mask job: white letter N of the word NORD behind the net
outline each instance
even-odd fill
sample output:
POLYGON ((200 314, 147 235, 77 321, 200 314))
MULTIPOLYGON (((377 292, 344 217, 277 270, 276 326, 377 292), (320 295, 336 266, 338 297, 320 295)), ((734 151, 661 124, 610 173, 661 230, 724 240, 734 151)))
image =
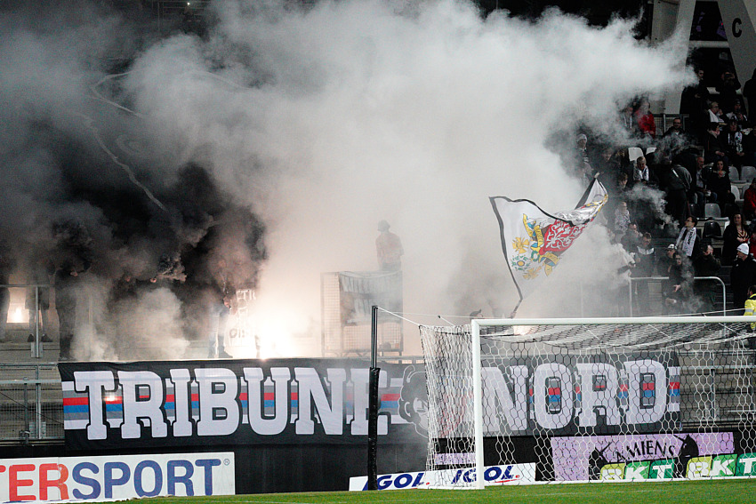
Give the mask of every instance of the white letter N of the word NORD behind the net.
POLYGON ((527 366, 513 365, 509 368, 510 380, 514 389, 514 401, 511 390, 504 380, 501 369, 497 367, 482 368, 483 380, 483 422, 488 432, 501 432, 501 412, 506 416, 512 431, 527 428, 527 366), (498 399, 498 402, 495 401, 498 399), (497 408, 497 404, 500 408, 497 408))

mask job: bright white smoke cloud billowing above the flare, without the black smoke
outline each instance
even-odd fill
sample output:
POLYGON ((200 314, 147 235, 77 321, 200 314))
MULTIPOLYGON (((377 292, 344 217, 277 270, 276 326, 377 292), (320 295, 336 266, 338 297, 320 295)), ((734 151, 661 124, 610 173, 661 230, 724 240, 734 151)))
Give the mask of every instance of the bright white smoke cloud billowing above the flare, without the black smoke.
MULTIPOLYGON (((639 42, 632 20, 484 19, 453 0, 211 10, 217 22, 204 38, 147 44, 120 98, 140 116, 140 141, 159 153, 153 182, 201 161, 261 216, 269 260, 257 316, 281 335, 318 331, 321 272, 377 267, 382 219, 406 251, 406 312, 509 313, 516 291, 488 196, 573 207, 583 188, 546 147, 553 134, 578 124, 615 132, 617 103, 689 79, 685 44, 639 42)), ((83 99, 60 100, 75 108, 83 99)), ((606 235, 594 229, 580 241, 523 315, 563 315, 576 306, 576 279, 613 275, 606 235)), ((406 335, 408 351, 419 351, 406 335)), ((318 339, 279 347, 318 355, 318 339)))

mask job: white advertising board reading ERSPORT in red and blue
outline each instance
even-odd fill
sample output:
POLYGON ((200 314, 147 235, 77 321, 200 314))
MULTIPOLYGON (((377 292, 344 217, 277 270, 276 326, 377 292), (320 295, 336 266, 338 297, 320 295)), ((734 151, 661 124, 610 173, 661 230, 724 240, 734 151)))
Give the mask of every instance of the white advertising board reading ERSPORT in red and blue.
POLYGON ((0 502, 234 493, 232 452, 0 459, 0 502))

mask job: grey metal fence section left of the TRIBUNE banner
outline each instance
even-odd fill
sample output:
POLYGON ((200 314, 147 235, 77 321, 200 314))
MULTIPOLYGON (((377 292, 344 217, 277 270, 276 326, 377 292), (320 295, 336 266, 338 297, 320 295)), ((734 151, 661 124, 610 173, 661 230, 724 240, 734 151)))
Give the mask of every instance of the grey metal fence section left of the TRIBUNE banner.
POLYGON ((63 438, 57 364, 0 364, 0 441, 63 438))

